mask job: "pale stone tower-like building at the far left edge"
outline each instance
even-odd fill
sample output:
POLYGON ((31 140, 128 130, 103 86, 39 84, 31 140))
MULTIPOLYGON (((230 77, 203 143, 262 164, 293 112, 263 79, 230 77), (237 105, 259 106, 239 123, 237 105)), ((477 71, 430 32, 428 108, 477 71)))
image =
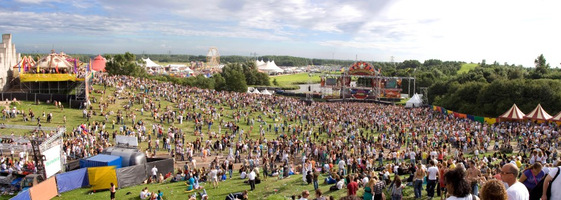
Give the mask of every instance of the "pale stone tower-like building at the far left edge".
MULTIPOLYGON (((12 44, 12 34, 3 34, 0 43, 0 87, 4 91, 9 87, 8 75, 12 67, 17 65, 19 53, 16 53, 16 45, 12 44)), ((19 69, 19 68, 18 68, 19 69)))

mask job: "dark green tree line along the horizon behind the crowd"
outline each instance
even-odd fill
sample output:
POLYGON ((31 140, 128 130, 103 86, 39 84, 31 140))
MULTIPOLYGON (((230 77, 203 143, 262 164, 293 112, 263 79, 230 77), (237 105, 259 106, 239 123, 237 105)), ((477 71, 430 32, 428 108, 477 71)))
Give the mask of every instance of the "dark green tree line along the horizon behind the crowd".
MULTIPOLYGON (((39 58, 39 54, 28 54, 39 58)), ((95 55, 71 55, 83 62, 95 55)), ((146 56, 146 55, 144 55, 146 56)), ((148 55, 160 62, 204 61, 205 56, 185 55, 148 55)), ((204 75, 188 78, 167 75, 148 75, 138 65, 142 62, 139 56, 132 53, 104 55, 107 58, 106 70, 109 74, 122 74, 146 77, 160 81, 171 81, 178 84, 228 91, 247 91, 248 85, 271 85, 267 74, 256 69, 255 57, 223 56, 222 63, 227 63, 222 73, 211 78, 204 75)), ((309 59, 292 56, 261 56, 258 60, 274 60, 279 66, 306 65, 340 65, 350 66, 354 61, 309 59)), ((498 62, 487 63, 482 60, 477 67, 466 73, 459 74, 465 62, 441 61, 438 59, 405 60, 403 62, 372 62, 376 69, 380 68, 384 76, 415 77, 415 84, 408 79, 402 81, 402 93, 411 94, 411 90, 420 92, 420 88, 428 88, 428 103, 442 106, 461 113, 496 117, 516 103, 523 112, 530 112, 538 103, 550 114, 561 110, 561 70, 551 68, 545 57, 538 56, 534 60, 535 67, 525 68, 498 62)))

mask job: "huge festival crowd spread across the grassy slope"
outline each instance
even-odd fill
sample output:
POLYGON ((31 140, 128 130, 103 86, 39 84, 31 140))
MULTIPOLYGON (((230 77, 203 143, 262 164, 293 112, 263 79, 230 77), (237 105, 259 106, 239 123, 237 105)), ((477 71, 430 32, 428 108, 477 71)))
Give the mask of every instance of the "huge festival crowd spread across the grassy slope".
MULTIPOLYGON (((190 190, 203 189, 199 182, 207 181, 217 188, 237 168, 249 190, 262 181, 302 176, 303 184, 313 185, 316 199, 328 199, 320 182, 332 185, 330 190, 346 189, 345 199, 361 193, 363 199, 401 199, 406 187, 413 188, 415 198, 490 199, 501 188, 508 199, 535 199, 530 194, 540 180, 551 180, 559 171, 555 123, 486 124, 395 105, 306 105, 284 96, 128 76, 96 75, 94 84, 118 89, 94 90, 102 95, 83 107, 85 123, 65 135, 67 159, 98 154, 116 135, 135 136, 147 144, 143 150, 149 157, 165 152, 185 163, 173 180, 185 181, 190 190), (118 102, 125 103, 108 109, 118 102), (151 120, 139 117, 145 115, 151 120), (192 124, 192 131, 178 128, 184 123, 192 124), (511 197, 511 190, 522 189, 526 193, 516 195, 527 196, 511 197)), ((309 192, 298 195, 309 198, 309 192)), ((551 199, 556 198, 560 191, 552 192, 551 199)))

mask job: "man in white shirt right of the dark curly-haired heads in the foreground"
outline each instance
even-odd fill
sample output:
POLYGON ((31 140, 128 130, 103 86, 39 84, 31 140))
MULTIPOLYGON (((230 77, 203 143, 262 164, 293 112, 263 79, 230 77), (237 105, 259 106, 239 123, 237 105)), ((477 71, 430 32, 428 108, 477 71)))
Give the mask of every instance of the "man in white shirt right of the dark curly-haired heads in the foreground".
POLYGON ((506 194, 508 195, 508 200, 528 200, 530 199, 530 193, 524 184, 518 182, 516 178, 520 173, 518 167, 515 164, 508 163, 501 168, 501 178, 503 182, 508 184, 506 194))

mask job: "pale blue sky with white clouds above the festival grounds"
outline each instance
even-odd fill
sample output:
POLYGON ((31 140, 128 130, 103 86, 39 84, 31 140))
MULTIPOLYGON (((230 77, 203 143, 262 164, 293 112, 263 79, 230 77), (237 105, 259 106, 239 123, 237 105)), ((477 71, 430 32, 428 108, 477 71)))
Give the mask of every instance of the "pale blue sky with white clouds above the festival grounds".
POLYGON ((561 67, 561 1, 2 0, 18 52, 440 59, 561 67))

